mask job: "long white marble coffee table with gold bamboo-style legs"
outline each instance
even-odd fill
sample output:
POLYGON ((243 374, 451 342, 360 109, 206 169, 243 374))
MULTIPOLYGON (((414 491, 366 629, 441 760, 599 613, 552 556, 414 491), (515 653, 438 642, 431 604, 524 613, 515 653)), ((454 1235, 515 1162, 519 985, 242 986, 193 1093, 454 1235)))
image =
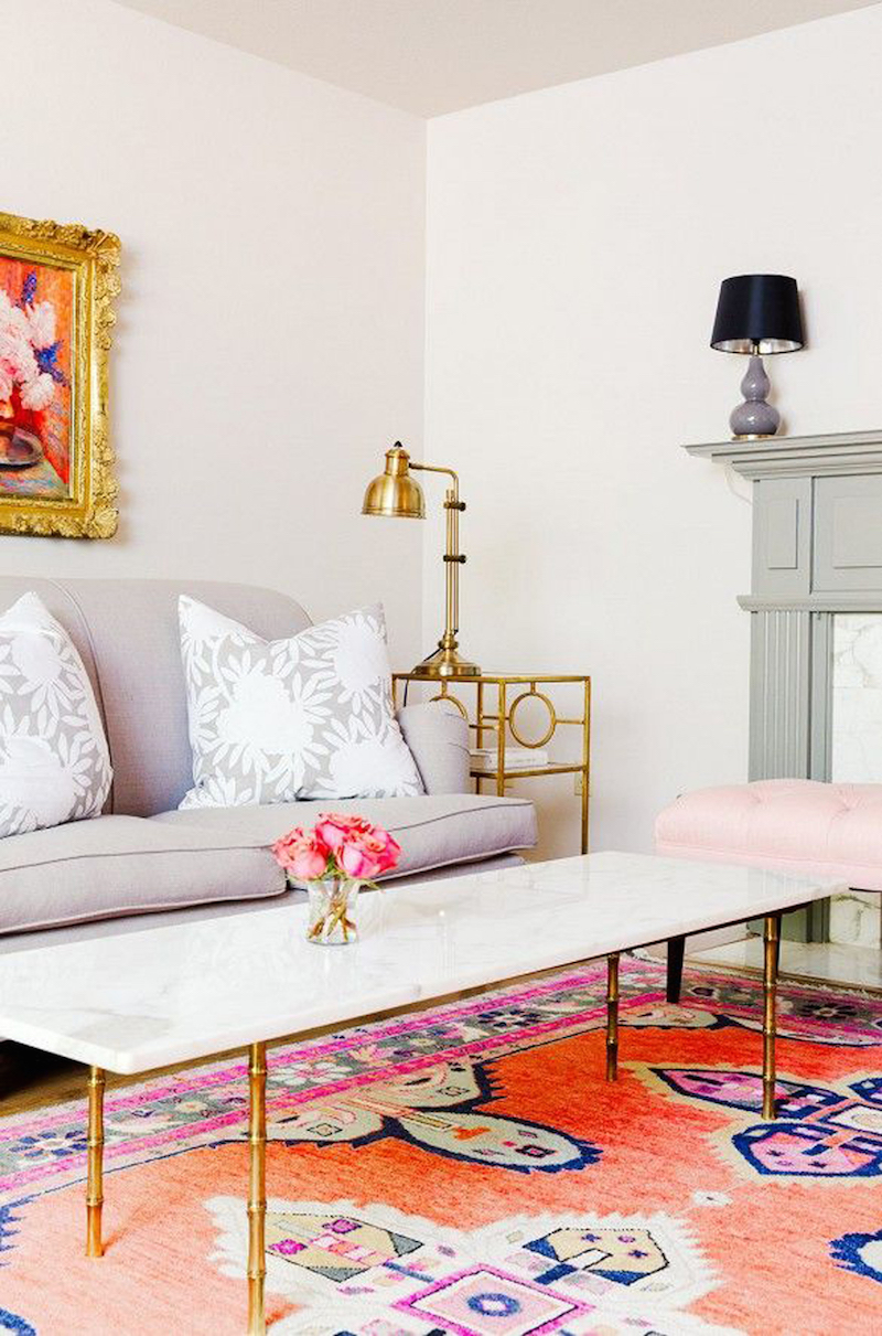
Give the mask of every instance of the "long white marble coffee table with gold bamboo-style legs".
POLYGON ((103 1252, 104 1073, 250 1049, 248 1332, 266 1331, 266 1045, 466 989, 607 957, 616 1075, 619 953, 765 919, 763 1113, 774 1117, 781 912, 842 890, 749 867, 588 854, 395 887, 358 907, 360 941, 304 938, 306 904, 250 910, 0 958, 0 1034, 89 1066, 87 1252, 103 1252))

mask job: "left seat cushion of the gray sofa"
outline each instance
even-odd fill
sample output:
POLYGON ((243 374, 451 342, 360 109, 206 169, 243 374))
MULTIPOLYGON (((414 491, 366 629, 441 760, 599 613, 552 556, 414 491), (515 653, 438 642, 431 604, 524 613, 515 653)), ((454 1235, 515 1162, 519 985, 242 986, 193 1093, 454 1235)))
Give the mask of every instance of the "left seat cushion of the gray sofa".
POLYGON ((268 850, 222 824, 97 816, 0 840, 0 934, 283 890, 268 850))

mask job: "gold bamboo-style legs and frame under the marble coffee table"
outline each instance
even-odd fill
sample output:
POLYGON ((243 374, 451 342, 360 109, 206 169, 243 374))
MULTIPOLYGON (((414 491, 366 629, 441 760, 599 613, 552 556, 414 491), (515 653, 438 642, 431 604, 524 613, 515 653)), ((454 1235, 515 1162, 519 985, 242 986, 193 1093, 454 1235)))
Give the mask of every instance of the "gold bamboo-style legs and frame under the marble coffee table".
MULTIPOLYGON (((781 914, 791 910, 805 908, 805 906, 790 906, 787 910, 767 914, 765 925, 765 963, 763 963, 763 1046, 762 1046, 762 1086, 763 1118, 775 1118, 775 1031, 777 1031, 777 989, 778 989, 778 946, 781 938, 781 914)), ((729 925, 719 925, 726 927, 729 925)), ((652 943, 635 943, 651 946, 652 943)), ((615 951, 607 955, 607 987, 606 987, 606 1079, 618 1079, 619 1057, 619 957, 615 951)), ((598 959, 588 957, 587 959, 598 959)), ((572 961, 571 965, 579 963, 572 961)), ((560 969, 556 966, 555 969, 560 969)), ((476 997, 491 989, 506 987, 522 979, 535 978, 540 974, 551 974, 554 970, 536 970, 532 974, 522 974, 514 979, 494 979, 491 983, 467 989, 463 993, 450 997, 427 998, 426 1002, 415 1006, 391 1007, 387 1011, 376 1013, 374 1017, 362 1017, 347 1021, 347 1026, 358 1026, 370 1019, 392 1015, 395 1013, 424 1011, 428 1007, 443 1006, 454 998, 476 997)), ((287 1043, 292 1039, 315 1038, 323 1034, 334 1034, 340 1029, 340 1023, 320 1026, 307 1034, 282 1035, 278 1043, 287 1043)), ((204 1054, 199 1061, 209 1058, 204 1054)), ((107 1078, 101 1067, 89 1067, 88 1077, 88 1169, 85 1190, 85 1255, 87 1257, 101 1257, 104 1242, 101 1234, 101 1213, 104 1206, 104 1092, 107 1078)), ((264 1309, 264 1291, 267 1277, 266 1260, 266 1220, 267 1220, 267 1043, 252 1043, 248 1047, 248 1327, 247 1336, 266 1336, 267 1320, 264 1309)))

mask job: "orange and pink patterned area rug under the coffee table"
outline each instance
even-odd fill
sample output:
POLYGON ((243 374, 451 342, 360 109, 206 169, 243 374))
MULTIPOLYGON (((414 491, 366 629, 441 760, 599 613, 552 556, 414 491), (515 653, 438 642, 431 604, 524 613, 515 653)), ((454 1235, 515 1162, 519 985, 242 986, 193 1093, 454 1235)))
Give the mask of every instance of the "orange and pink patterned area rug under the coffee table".
MULTIPOLYGON (((882 1331, 882 999, 623 962, 278 1047, 274 1336, 882 1331)), ((107 1101, 107 1255, 83 1256, 83 1104, 0 1120, 0 1333, 244 1331, 247 1074, 107 1101)))

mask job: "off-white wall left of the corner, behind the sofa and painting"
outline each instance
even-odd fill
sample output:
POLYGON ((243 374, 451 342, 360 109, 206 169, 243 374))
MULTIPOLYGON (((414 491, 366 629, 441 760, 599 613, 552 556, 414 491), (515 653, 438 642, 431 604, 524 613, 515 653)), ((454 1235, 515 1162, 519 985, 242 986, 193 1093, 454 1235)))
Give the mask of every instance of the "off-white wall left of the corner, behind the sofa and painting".
POLYGON ((121 528, 0 569, 200 576, 419 636, 418 526, 359 514, 423 413, 424 124, 104 0, 0 0, 3 208, 119 232, 121 528))

